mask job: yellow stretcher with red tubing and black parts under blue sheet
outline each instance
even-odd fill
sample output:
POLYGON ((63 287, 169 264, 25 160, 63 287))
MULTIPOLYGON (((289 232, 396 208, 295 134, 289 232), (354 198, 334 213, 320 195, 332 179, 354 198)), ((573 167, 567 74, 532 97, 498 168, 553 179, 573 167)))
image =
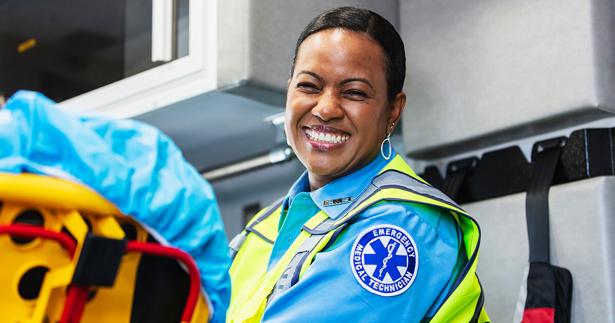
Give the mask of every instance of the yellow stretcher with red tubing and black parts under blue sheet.
POLYGON ((205 299, 188 253, 103 197, 0 173, 0 323, 207 322, 205 299))

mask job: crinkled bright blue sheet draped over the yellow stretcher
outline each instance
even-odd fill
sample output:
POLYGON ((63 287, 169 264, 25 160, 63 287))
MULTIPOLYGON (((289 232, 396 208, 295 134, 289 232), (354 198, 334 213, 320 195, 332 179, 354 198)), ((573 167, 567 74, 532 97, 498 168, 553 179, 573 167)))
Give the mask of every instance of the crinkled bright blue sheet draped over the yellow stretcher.
POLYGON ((227 240, 212 186, 158 129, 130 119, 68 113, 37 92, 0 109, 0 171, 77 181, 190 253, 224 322, 231 297, 227 240))

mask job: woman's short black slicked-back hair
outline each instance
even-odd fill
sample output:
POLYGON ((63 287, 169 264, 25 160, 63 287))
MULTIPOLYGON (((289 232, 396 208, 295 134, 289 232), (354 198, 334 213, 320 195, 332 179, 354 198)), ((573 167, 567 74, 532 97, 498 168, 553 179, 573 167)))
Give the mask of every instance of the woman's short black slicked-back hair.
POLYGON ((392 101, 395 95, 402 92, 403 81, 406 77, 406 54, 403 49, 402 38, 395 27, 381 15, 368 9, 355 7, 338 7, 327 10, 308 23, 297 39, 293 66, 290 70, 291 78, 295 73, 295 63, 301 43, 312 34, 331 28, 364 33, 375 41, 383 49, 386 57, 383 68, 389 101, 392 101))

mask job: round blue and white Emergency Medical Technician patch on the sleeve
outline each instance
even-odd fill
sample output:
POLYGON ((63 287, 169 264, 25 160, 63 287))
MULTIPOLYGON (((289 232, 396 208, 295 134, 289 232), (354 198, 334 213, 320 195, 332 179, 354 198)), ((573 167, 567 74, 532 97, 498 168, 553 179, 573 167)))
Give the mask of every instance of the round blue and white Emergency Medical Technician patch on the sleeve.
POLYGON ((350 263, 363 288, 376 295, 395 296, 412 285, 419 260, 415 241, 404 229, 376 225, 354 241, 350 263))

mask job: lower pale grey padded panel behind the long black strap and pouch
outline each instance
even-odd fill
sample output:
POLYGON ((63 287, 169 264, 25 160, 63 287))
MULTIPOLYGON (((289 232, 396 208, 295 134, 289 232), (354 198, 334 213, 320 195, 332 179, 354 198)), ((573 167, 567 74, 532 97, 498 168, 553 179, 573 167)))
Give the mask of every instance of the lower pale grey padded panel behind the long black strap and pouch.
MULTIPOLYGON (((615 177, 552 186, 551 262, 573 276, 571 322, 615 322, 615 177)), ((492 322, 513 322, 528 266, 525 193, 461 205, 480 224, 477 273, 492 322)))

